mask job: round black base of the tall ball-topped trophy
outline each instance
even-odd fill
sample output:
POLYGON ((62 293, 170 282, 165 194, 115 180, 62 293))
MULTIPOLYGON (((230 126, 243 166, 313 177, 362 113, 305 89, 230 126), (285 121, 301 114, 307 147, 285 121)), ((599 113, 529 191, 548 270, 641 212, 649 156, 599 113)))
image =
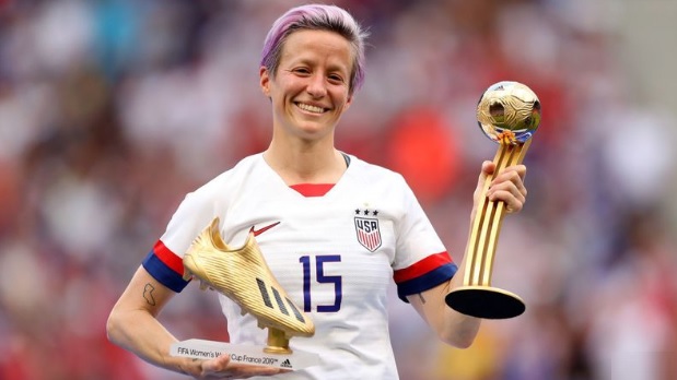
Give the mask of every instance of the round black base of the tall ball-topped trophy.
POLYGON ((514 318, 526 309, 516 294, 491 286, 462 286, 447 294, 444 300, 460 313, 483 319, 514 318))

